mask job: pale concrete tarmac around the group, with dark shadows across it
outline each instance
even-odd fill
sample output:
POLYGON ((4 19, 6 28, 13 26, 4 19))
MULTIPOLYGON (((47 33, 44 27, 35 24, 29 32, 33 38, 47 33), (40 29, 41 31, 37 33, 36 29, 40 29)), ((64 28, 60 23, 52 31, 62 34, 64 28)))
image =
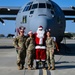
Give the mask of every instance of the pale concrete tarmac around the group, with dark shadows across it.
POLYGON ((60 53, 55 54, 56 70, 18 70, 12 42, 13 39, 0 38, 0 75, 75 75, 75 40, 66 40, 66 46, 62 45, 60 53))

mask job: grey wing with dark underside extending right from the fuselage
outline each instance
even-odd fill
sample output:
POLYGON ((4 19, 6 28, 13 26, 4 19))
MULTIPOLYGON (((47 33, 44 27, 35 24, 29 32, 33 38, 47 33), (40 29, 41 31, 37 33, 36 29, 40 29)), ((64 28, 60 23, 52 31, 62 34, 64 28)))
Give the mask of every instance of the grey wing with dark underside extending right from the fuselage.
POLYGON ((75 21, 75 7, 61 7, 62 11, 64 12, 66 20, 73 20, 75 21))

